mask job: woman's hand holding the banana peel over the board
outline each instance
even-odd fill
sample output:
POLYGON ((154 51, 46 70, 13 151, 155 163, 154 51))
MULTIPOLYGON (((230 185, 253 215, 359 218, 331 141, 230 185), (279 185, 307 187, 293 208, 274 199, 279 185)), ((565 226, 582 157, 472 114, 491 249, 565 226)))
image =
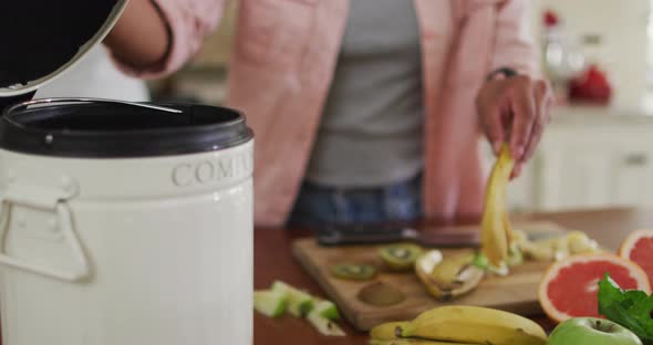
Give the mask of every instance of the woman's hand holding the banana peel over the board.
POLYGON ((509 143, 515 159, 512 178, 532 156, 549 124, 552 94, 549 83, 526 75, 488 81, 476 100, 483 129, 498 154, 509 143))

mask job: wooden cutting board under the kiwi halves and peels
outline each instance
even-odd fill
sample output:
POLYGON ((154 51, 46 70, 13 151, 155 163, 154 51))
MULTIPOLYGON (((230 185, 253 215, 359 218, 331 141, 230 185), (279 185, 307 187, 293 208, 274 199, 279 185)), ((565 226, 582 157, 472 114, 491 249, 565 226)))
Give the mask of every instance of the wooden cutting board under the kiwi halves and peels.
MULTIPOLYGON (((550 222, 516 223, 516 228, 537 237, 560 234, 563 228, 550 222)), ((320 247, 314 239, 301 239, 293 243, 293 254, 307 272, 320 284, 342 314, 360 331, 369 331, 384 322, 411 320, 423 311, 446 304, 466 304, 505 310, 521 315, 541 313, 538 285, 549 263, 526 262, 514 268, 508 276, 489 276, 471 293, 448 302, 434 300, 415 274, 381 271, 372 281, 352 282, 334 278, 329 268, 341 262, 370 263, 383 268, 377 245, 320 247), (405 293, 404 302, 386 307, 361 302, 356 295, 369 284, 384 282, 405 293)), ((450 255, 465 249, 443 249, 450 255)), ((467 249, 468 250, 468 249, 467 249)))

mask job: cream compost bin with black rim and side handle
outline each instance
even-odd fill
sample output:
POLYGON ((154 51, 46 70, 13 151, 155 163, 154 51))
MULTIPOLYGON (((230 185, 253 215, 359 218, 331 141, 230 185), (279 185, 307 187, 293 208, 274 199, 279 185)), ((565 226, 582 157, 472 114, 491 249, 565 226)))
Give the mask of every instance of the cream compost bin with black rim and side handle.
POLYGON ((2 344, 251 344, 245 118, 70 101, 0 119, 2 344))

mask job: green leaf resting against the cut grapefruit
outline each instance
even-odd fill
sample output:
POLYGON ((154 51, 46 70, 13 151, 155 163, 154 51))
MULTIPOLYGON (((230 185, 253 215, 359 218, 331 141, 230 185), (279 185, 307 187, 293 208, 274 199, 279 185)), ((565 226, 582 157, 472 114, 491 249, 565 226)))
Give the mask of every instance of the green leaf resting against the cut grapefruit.
POLYGON ((599 282, 599 314, 636 334, 642 343, 653 345, 653 295, 622 290, 610 274, 599 282))

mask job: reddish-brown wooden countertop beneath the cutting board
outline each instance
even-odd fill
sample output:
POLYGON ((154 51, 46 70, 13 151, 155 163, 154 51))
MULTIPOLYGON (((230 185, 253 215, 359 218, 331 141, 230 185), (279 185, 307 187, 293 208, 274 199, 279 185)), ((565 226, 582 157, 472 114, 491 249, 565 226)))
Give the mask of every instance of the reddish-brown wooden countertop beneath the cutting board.
MULTIPOLYGON (((604 247, 616 250, 625 236, 636 229, 653 228, 653 210, 605 209, 591 211, 568 211, 557 213, 519 215, 516 218, 550 220, 568 229, 585 231, 604 247)), ((310 236, 305 231, 271 229, 255 230, 255 288, 267 289, 274 280, 283 280, 305 289, 312 294, 324 296, 320 288, 302 271, 291 254, 293 239, 310 236)), ((343 322, 346 337, 323 337, 305 321, 289 316, 267 318, 255 313, 255 344, 367 344, 367 334, 355 332, 343 322)), ((545 328, 552 324, 545 317, 535 318, 545 328)))

